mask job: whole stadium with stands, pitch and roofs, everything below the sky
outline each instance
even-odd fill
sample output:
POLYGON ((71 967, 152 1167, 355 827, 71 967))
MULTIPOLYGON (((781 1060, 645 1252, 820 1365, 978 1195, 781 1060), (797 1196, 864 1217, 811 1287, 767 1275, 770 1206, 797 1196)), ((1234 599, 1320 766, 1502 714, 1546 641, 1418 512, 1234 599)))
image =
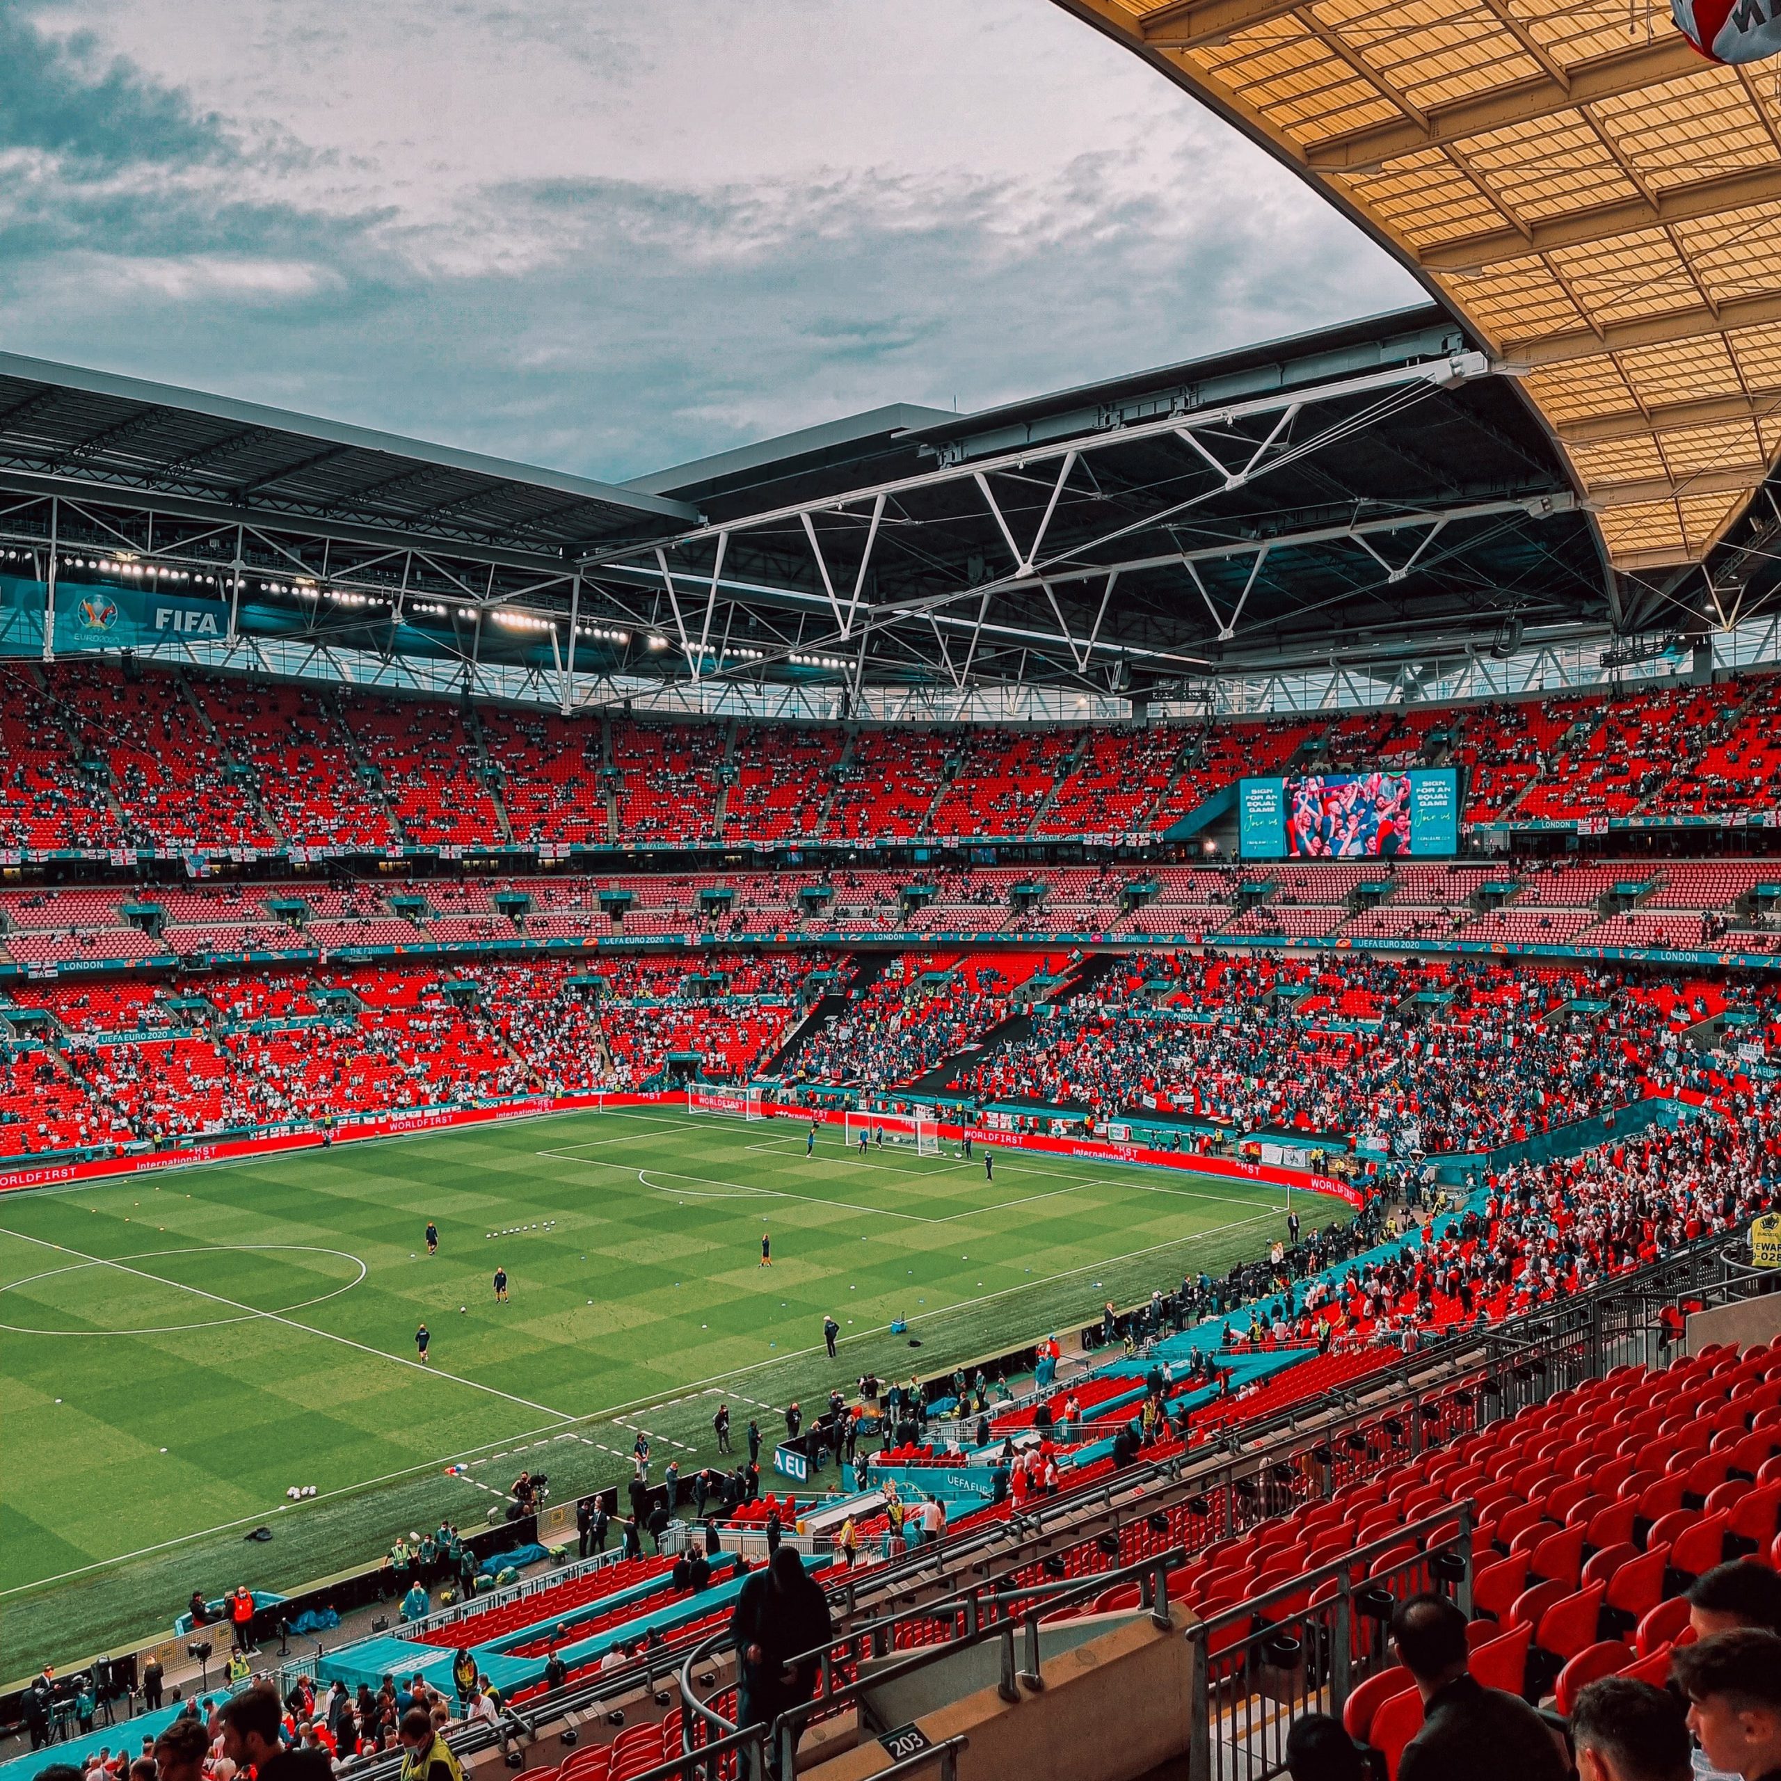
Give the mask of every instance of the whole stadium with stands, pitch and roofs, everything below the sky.
POLYGON ((1441 301, 623 486, 0 356, 0 1781, 1395 1781, 1776 1626, 1772 107, 1070 11, 1441 301))

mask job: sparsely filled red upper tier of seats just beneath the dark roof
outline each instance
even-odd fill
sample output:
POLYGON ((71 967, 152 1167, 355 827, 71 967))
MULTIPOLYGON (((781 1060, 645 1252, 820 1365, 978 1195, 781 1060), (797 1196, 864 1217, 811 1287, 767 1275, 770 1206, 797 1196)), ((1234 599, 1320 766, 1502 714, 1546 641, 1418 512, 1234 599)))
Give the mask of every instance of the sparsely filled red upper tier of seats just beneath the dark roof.
POLYGON ((1468 821, 1772 807, 1781 679, 1188 728, 565 720, 93 661, 0 687, 0 846, 784 844, 1158 832, 1236 778, 1452 764, 1468 821))

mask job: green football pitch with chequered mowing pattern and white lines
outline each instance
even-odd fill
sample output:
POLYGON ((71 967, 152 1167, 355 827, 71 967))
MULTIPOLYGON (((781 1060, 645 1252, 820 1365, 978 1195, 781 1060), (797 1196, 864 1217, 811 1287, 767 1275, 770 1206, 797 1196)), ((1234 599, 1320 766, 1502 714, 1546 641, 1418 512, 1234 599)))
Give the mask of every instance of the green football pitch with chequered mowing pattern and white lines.
POLYGON ((654 1476, 691 1471, 720 1402, 771 1452, 793 1398, 1086 1323, 1282 1229, 1259 1183, 1012 1151, 988 1181, 839 1127, 805 1156, 805 1129, 552 1115, 0 1199, 0 1683, 192 1589, 481 1526, 522 1466, 559 1501, 614 1484, 639 1428, 654 1476))

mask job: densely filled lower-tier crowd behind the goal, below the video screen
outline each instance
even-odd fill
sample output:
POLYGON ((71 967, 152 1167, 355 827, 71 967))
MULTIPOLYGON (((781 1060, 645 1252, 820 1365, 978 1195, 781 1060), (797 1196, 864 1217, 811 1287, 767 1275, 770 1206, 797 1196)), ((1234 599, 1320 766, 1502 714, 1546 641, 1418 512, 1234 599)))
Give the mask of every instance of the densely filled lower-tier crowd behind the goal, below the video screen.
MULTIPOLYGON (((946 1088, 1094 1118, 1179 1113, 1238 1133, 1348 1134, 1386 1152, 1487 1151, 1614 1113, 1655 1086, 1713 1088, 1681 1042, 1722 1012, 1610 971, 1350 955, 1339 962, 1127 960, 946 1088)), ((1756 988, 1740 997, 1774 1024, 1756 988)), ((841 1028, 837 1022, 837 1035, 841 1028)), ((871 1056, 867 1031, 857 1056, 871 1056)), ((834 1079, 844 1061, 825 1060, 834 1079)), ((903 1078, 907 1081, 907 1078, 903 1078)))

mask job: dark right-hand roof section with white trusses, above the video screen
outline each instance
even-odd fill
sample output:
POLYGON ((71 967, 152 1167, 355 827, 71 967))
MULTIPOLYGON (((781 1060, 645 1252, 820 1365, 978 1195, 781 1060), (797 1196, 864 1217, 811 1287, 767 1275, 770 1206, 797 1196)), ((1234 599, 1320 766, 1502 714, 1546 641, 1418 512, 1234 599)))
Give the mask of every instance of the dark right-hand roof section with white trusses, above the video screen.
POLYGON ((657 622, 695 655, 791 629, 880 679, 1106 693, 1610 623, 1558 452, 1434 306, 983 413, 876 410, 634 486, 703 522, 586 573, 671 590, 657 622))

